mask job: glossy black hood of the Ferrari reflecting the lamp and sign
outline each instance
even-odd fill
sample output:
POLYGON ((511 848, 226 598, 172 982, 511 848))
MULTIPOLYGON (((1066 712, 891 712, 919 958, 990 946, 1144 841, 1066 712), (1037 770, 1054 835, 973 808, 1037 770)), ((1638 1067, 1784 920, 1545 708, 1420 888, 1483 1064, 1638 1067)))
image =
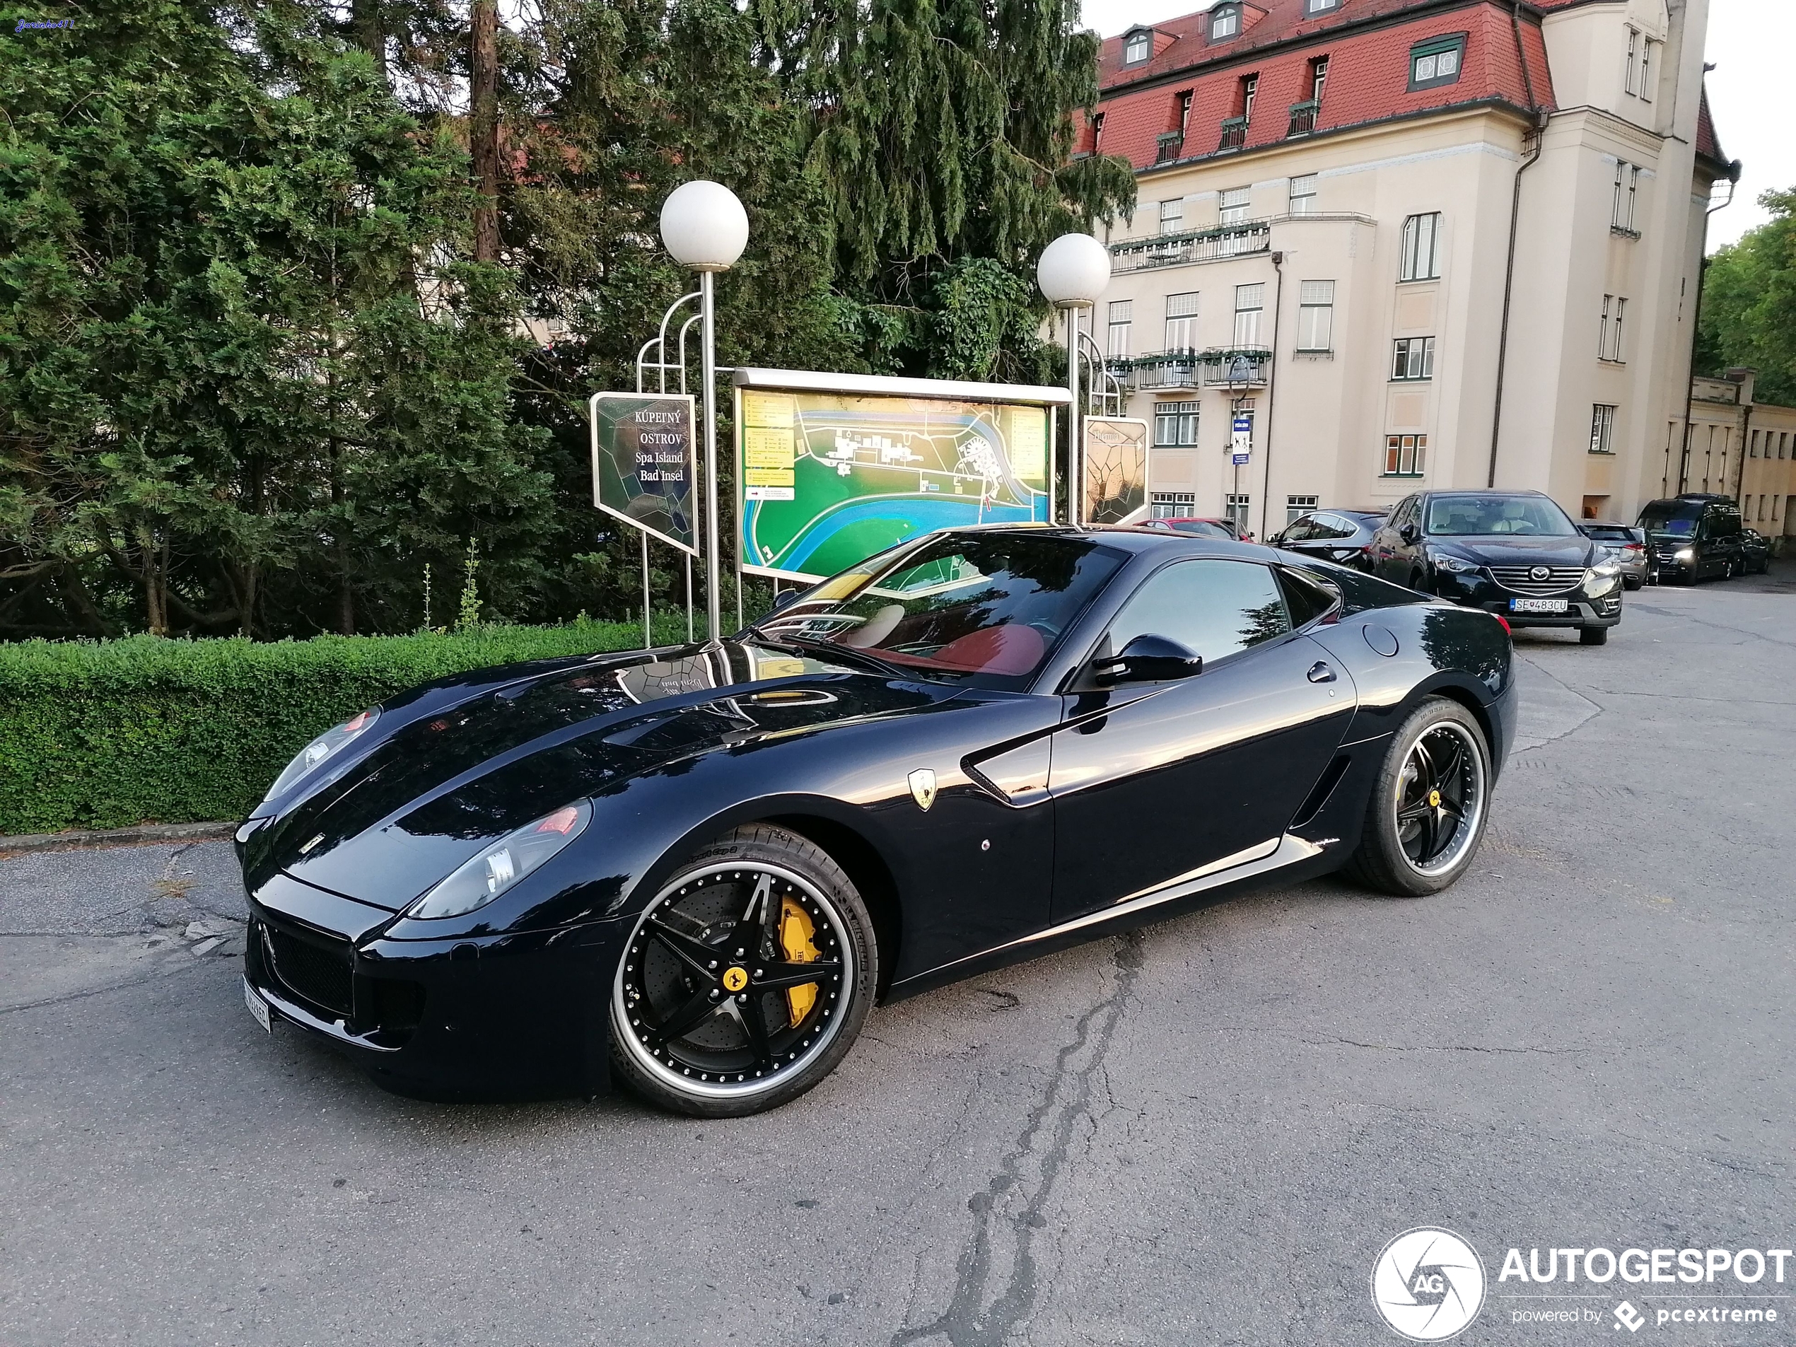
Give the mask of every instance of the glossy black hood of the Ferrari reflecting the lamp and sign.
POLYGON ((957 691, 735 641, 487 684, 253 833, 244 876, 253 891, 284 869, 397 912, 494 839, 641 772, 957 691))

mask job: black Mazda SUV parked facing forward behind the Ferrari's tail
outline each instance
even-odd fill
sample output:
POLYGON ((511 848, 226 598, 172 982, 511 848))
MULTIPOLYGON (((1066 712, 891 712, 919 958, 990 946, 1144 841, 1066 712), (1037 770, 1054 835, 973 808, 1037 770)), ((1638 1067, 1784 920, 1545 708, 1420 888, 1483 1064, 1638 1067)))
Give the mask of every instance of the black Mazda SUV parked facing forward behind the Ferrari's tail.
POLYGON ((1372 539, 1372 569, 1510 627, 1577 627, 1602 645, 1622 620, 1622 568, 1537 490, 1424 490, 1372 539))

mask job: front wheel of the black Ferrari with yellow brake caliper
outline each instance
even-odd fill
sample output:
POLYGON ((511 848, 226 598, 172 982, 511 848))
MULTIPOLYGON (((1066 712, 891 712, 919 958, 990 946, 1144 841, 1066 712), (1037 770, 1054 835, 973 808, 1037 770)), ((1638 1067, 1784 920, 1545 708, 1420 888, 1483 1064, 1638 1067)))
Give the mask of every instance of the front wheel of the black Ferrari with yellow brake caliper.
POLYGON ((638 918, 612 982, 612 1067, 695 1117, 776 1108, 848 1054, 876 957, 841 866, 783 828, 738 828, 681 866, 638 918))

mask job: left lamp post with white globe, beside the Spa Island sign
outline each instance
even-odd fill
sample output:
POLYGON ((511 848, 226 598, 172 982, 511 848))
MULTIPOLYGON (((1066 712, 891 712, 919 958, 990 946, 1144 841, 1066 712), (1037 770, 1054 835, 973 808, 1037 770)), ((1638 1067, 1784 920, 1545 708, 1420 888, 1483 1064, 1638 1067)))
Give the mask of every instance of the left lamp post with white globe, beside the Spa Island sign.
MULTIPOLYGON (((717 296, 715 277, 729 271, 749 246, 749 212, 722 183, 681 183, 661 205, 661 242, 681 266, 699 273, 700 357, 704 381, 704 616, 706 639, 724 627, 722 557, 717 515, 717 296)), ((663 359, 666 359, 663 356, 663 359)))

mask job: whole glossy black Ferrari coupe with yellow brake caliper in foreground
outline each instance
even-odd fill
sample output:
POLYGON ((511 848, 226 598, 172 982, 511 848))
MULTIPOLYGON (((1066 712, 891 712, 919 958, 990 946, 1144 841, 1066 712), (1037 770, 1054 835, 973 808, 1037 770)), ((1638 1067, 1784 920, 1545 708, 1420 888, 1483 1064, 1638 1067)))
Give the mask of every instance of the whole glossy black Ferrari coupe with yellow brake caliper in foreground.
POLYGON ((704 645, 417 688, 237 832, 244 995, 433 1097, 785 1103, 898 999, 1252 885, 1453 884, 1509 632, 1135 528, 930 533, 704 645))

